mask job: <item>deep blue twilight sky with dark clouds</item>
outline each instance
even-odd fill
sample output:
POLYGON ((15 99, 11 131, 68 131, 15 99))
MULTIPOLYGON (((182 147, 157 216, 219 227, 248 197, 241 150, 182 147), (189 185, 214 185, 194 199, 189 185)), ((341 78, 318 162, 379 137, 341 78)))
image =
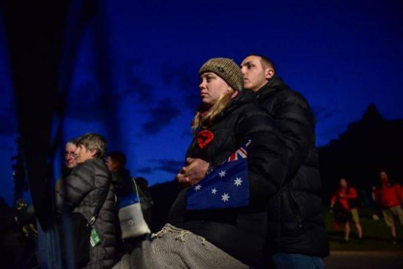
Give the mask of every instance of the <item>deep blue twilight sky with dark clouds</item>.
MULTIPOLYGON (((198 104, 197 70, 213 57, 240 63, 254 52, 272 58, 278 74, 315 111, 319 146, 359 120, 370 103, 387 119, 403 118, 398 1, 142 2, 103 2, 108 57, 97 49, 99 18, 86 25, 64 139, 104 134, 110 150, 126 153, 132 174, 151 184, 173 179, 183 162, 198 104), (106 93, 99 65, 107 65, 112 87, 106 93)), ((0 196, 11 202, 17 124, 1 27, 0 196)))

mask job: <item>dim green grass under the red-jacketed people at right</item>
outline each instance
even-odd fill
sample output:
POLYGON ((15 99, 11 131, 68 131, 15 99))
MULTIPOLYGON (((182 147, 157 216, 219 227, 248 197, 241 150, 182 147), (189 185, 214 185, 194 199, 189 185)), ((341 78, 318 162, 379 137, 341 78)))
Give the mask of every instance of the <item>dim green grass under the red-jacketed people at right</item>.
POLYGON ((333 214, 328 207, 323 208, 323 217, 329 239, 330 250, 350 250, 350 251, 403 251, 403 229, 395 220, 397 245, 391 244, 390 230, 382 218, 382 213, 376 208, 359 208, 360 223, 363 229, 364 239, 360 242, 357 239, 357 231, 352 225, 350 240, 344 243, 344 230, 341 225, 338 231, 333 229, 333 214), (373 220, 372 214, 377 213, 379 220, 373 220))

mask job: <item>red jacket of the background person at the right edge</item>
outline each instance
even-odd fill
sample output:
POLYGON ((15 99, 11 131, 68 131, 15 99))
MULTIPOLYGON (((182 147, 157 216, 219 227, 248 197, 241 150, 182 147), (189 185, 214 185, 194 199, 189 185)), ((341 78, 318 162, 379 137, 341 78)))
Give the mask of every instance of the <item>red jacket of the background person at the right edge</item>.
POLYGON ((380 188, 373 190, 373 198, 383 208, 390 208, 400 205, 403 201, 403 187, 400 184, 383 184, 380 188))

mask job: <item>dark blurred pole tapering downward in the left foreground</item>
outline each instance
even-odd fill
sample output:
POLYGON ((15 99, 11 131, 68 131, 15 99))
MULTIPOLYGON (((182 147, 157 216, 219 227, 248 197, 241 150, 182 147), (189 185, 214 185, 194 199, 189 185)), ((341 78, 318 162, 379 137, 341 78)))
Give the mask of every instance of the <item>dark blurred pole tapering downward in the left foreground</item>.
POLYGON ((65 0, 3 4, 23 158, 36 216, 44 228, 52 211, 52 119, 63 107, 56 89, 67 4, 65 0))

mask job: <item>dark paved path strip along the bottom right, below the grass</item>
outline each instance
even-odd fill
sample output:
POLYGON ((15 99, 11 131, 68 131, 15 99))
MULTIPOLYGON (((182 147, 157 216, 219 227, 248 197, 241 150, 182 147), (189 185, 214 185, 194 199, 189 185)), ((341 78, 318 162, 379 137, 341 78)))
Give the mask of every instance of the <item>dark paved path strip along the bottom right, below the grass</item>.
POLYGON ((324 263, 327 269, 403 269, 403 252, 331 251, 324 263))

